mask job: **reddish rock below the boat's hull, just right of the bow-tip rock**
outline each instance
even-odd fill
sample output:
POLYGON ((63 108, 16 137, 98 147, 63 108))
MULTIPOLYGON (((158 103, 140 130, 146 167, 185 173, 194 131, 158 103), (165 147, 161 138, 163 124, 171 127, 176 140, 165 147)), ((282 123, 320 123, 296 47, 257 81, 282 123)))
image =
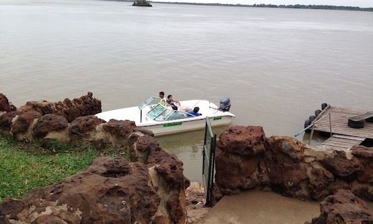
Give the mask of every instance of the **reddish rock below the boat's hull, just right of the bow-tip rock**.
POLYGON ((104 124, 104 130, 116 137, 128 137, 135 127, 135 122, 130 120, 111 119, 109 122, 104 124))

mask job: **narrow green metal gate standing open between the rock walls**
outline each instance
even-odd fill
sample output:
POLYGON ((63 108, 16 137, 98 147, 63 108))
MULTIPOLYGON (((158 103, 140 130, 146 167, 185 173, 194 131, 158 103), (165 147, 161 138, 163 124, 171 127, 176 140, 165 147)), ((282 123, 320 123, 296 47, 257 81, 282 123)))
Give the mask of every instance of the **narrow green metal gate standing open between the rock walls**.
POLYGON ((211 122, 206 118, 206 127, 204 129, 204 143, 202 149, 202 180, 204 185, 204 197, 206 205, 211 205, 213 192, 213 176, 215 171, 215 148, 216 134, 211 129, 211 122))

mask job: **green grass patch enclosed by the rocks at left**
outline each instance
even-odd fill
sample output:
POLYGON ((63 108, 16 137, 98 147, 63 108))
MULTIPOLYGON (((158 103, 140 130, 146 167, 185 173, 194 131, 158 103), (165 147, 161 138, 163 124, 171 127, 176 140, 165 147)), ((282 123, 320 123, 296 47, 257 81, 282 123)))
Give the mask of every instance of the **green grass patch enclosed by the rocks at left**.
POLYGON ((84 171, 97 156, 124 156, 117 147, 96 150, 90 146, 71 147, 57 141, 20 143, 0 138, 0 201, 6 197, 21 198, 35 187, 44 187, 67 176, 84 171))

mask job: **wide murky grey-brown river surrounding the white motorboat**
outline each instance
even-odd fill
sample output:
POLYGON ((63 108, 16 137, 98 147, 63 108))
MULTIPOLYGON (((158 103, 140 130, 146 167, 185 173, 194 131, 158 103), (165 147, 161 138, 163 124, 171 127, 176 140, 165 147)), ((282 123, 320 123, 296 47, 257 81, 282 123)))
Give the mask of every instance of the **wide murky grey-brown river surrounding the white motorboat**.
MULTIPOLYGON (((229 96, 234 124, 292 136, 322 102, 373 110, 373 13, 0 0, 0 92, 20 106, 88 91, 104 111, 229 96)), ((159 138, 191 180, 202 136, 159 138)))

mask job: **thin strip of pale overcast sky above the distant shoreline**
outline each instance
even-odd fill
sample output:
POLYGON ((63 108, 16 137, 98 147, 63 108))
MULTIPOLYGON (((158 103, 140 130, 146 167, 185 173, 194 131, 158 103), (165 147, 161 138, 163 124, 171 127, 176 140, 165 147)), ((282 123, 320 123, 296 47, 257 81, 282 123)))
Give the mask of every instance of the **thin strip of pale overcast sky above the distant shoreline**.
MULTIPOLYGON (((156 0, 155 0, 156 1, 156 0)), ((198 3, 233 3, 253 5, 259 3, 274 5, 332 5, 332 6, 360 6, 373 7, 373 0, 160 0, 178 2, 198 2, 198 3)))

